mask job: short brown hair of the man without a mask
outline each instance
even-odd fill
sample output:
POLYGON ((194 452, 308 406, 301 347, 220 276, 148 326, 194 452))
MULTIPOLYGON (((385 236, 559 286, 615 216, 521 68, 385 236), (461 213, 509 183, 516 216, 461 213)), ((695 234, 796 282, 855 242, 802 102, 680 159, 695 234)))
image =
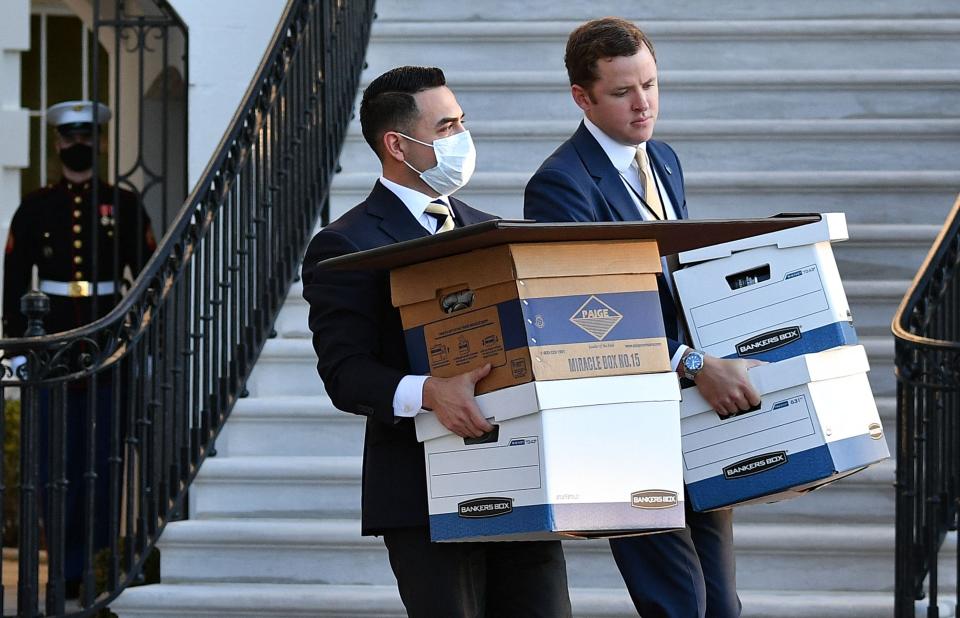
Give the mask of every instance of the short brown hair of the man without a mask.
POLYGON ((567 66, 570 85, 578 85, 586 90, 597 81, 597 61, 602 58, 632 56, 646 45, 653 56, 653 42, 640 28, 619 17, 603 17, 581 24, 570 33, 563 63, 567 66))

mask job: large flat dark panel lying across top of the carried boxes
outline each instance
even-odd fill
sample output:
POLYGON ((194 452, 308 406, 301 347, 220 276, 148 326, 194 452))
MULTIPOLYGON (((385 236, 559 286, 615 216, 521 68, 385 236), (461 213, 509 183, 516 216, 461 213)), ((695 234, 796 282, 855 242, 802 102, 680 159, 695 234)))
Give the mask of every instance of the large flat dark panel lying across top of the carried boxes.
POLYGON ((474 225, 358 251, 317 263, 322 270, 391 269, 475 249, 517 242, 569 240, 656 240, 669 255, 738 238, 814 223, 820 215, 784 215, 769 219, 533 223, 494 219, 474 225))

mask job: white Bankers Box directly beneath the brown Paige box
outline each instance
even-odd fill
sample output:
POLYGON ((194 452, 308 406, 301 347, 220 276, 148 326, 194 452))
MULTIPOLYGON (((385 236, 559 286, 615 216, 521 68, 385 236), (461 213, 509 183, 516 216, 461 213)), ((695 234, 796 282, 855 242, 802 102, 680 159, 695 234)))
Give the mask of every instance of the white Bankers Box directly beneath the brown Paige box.
POLYGON ((595 538, 684 526, 675 374, 529 382, 477 397, 461 438, 416 417, 433 541, 595 538))

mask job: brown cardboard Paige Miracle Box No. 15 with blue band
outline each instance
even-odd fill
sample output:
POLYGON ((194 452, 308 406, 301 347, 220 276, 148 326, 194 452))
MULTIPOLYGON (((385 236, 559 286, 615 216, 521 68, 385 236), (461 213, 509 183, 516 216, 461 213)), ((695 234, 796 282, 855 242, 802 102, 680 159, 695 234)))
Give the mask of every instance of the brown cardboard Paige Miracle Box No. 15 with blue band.
POLYGON ((506 244, 395 269, 413 373, 491 363, 477 393, 670 371, 653 241, 506 244))

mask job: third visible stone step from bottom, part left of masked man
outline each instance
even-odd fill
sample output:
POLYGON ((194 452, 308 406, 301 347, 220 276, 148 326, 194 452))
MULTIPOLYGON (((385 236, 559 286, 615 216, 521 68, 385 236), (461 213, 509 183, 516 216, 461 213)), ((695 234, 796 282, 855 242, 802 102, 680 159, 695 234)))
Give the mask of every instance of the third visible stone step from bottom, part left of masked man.
POLYGON ((190 518, 355 517, 360 513, 361 465, 359 454, 218 454, 203 463, 190 488, 190 518))

